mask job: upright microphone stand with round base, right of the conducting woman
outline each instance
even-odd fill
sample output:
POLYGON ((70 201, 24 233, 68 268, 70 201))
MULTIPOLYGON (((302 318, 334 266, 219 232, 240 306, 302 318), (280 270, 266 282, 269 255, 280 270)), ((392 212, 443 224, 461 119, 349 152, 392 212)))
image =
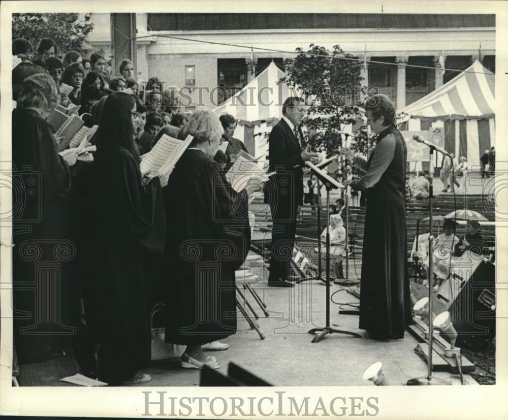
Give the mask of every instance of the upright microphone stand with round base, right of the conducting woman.
POLYGON ((429 268, 427 270, 427 279, 428 279, 428 287, 429 287, 429 309, 427 319, 429 320, 429 353, 427 356, 427 376, 411 378, 407 381, 407 385, 451 385, 452 383, 447 379, 435 378, 432 377, 432 344, 434 342, 434 326, 432 324, 432 278, 433 278, 433 252, 432 248, 434 246, 434 237, 432 236, 432 196, 434 195, 433 189, 433 178, 434 178, 434 147, 430 146, 429 150, 429 268))

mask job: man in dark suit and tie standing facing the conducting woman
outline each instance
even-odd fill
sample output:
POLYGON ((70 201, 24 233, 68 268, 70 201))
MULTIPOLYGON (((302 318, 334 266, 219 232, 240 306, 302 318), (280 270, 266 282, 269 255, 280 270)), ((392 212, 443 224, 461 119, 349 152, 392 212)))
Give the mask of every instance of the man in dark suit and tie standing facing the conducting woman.
POLYGON ((269 142, 270 171, 272 177, 272 252, 268 285, 292 287, 288 279, 288 264, 293 256, 298 206, 303 204, 303 165, 307 160, 318 159, 303 145, 300 123, 305 116, 305 103, 291 97, 282 104, 282 118, 272 128, 269 142))

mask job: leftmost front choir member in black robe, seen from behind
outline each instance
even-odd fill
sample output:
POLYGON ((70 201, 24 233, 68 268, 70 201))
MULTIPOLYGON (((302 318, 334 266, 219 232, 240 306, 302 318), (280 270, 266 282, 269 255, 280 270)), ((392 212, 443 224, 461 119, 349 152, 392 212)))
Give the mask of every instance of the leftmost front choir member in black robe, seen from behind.
POLYGON ((77 288, 72 277, 63 275, 75 253, 68 237, 66 206, 69 166, 76 163, 76 154, 58 155, 45 120, 58 103, 51 76, 31 75, 20 87, 12 115, 13 317, 18 360, 30 363, 70 345, 79 320, 77 288), (59 297, 46 295, 47 290, 59 297), (28 317, 16 311, 25 311, 28 317))

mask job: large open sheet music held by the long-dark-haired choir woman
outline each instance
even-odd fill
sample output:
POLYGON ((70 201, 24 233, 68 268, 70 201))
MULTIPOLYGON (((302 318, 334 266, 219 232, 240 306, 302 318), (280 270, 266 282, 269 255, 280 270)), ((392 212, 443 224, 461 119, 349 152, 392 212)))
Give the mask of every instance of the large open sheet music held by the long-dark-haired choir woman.
POLYGON ((181 141, 164 134, 141 160, 139 166, 141 173, 157 171, 159 175, 165 175, 171 170, 171 165, 176 164, 192 139, 192 136, 187 136, 185 141, 181 141))

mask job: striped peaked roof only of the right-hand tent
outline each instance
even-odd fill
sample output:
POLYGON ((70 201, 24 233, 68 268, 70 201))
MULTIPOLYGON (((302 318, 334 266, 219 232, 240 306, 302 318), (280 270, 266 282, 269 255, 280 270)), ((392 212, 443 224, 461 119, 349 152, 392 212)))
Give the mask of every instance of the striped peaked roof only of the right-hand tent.
POLYGON ((413 118, 431 120, 494 117, 494 73, 475 60, 469 68, 448 83, 399 112, 413 118))

